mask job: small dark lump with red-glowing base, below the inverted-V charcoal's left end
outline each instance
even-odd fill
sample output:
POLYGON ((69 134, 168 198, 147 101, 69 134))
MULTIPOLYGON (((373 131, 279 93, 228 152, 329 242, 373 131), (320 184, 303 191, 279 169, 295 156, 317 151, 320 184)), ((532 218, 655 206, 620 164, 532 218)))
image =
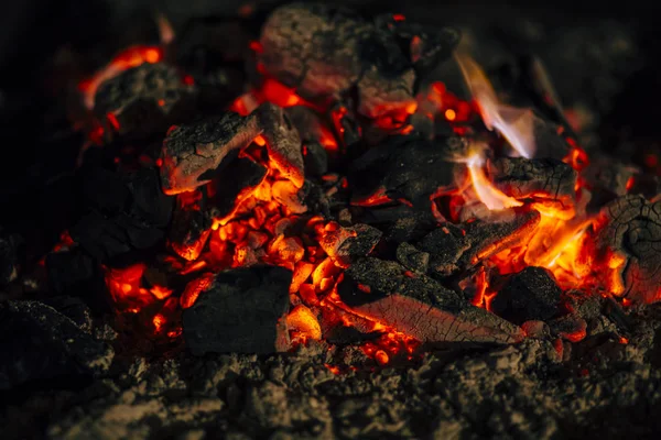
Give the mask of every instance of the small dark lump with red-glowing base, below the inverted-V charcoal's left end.
POLYGON ((212 231, 212 216, 201 207, 177 207, 167 234, 170 246, 182 258, 197 260, 212 231))

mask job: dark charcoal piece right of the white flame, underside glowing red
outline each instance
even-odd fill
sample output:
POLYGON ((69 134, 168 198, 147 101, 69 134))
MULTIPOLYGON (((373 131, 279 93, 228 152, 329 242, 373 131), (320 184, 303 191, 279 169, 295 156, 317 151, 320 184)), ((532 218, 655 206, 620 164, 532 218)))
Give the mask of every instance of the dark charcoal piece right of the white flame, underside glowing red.
POLYGON ((494 185, 516 199, 559 202, 566 209, 576 204, 578 175, 561 161, 500 157, 489 162, 488 172, 494 185))

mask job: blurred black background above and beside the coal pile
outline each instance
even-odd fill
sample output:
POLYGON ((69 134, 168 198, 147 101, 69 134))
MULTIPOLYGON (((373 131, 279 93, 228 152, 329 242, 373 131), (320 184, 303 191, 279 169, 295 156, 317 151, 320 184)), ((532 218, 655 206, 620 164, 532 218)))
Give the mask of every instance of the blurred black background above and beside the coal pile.
MULTIPOLYGON (((0 11, 0 226, 20 232, 39 228, 44 237, 56 237, 65 224, 54 219, 64 209, 67 174, 73 170, 80 140, 67 129, 57 106, 57 96, 48 90, 46 66, 55 51, 69 46, 89 59, 89 67, 111 56, 111 47, 122 47, 136 38, 153 34, 154 11, 165 13, 176 29, 186 20, 209 14, 231 14, 245 1, 236 0, 23 0, 4 2, 0 11), (143 35, 136 35, 137 23, 145 23, 143 35), (108 44, 111 42, 112 44, 108 44), (100 43, 105 45, 99 46, 100 43), (110 47, 110 48, 109 48, 110 47), (110 52, 106 52, 110 51, 110 52), (63 191, 62 185, 65 186, 63 191), (56 217, 56 216, 53 216, 56 217), (28 219, 28 220, 26 220, 28 219)), ((257 3, 257 2, 252 2, 257 3)), ((261 1, 277 4, 278 1, 261 1)), ((661 31, 659 12, 651 2, 548 2, 509 1, 460 4, 436 1, 344 1, 366 11, 402 12, 410 20, 481 28, 497 24, 508 29, 522 18, 532 18, 544 26, 544 38, 561 42, 564 29, 613 20, 633 30, 640 68, 627 69, 624 84, 611 92, 613 108, 600 120, 600 141, 605 150, 622 143, 633 145, 632 157, 659 148, 661 124, 658 101, 661 98, 659 56, 661 31), (628 72, 633 70, 633 72, 628 72)), ((606 33, 608 31, 605 31, 606 33)), ((572 42, 559 44, 572 45, 572 42)), ((562 48, 562 47, 561 47, 562 48)), ((599 47, 595 47, 599 50, 599 47)), ((627 62, 622 62, 627 63, 627 62)), ((626 66, 625 66, 626 67, 626 66)), ((577 69, 578 70, 578 69, 577 69)), ((583 70, 583 69, 581 69, 583 70)), ((584 72, 568 75, 586 75, 584 72)), ((565 101, 572 90, 590 86, 590 78, 575 81, 575 88, 560 87, 565 101)), ((565 81, 572 85, 572 81, 565 81)))

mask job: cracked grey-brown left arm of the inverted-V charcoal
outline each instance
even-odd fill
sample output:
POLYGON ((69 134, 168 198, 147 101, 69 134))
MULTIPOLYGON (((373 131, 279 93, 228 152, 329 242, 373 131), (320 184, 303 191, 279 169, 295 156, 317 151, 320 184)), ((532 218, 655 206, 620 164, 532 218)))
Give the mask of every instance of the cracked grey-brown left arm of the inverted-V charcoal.
POLYGON ((250 145, 260 133, 256 118, 232 112, 171 129, 162 150, 163 193, 192 191, 209 183, 207 172, 216 169, 229 152, 250 145))

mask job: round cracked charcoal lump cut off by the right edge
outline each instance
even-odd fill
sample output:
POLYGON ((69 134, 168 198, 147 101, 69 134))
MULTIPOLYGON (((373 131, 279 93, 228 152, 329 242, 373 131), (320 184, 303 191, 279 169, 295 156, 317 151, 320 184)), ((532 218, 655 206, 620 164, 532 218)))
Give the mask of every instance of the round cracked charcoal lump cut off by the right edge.
POLYGON ((661 300, 661 200, 620 197, 602 209, 596 229, 595 254, 604 265, 597 276, 603 283, 637 302, 661 300))

